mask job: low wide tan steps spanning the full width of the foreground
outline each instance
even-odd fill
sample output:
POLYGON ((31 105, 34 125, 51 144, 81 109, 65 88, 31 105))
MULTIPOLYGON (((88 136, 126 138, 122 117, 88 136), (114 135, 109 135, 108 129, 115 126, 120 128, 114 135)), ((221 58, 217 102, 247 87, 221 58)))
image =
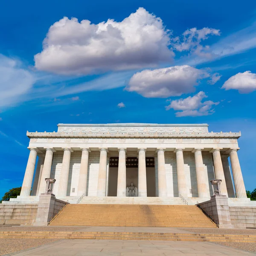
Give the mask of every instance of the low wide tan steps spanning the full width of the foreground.
POLYGON ((122 239, 162 241, 209 241, 256 243, 254 235, 144 233, 144 232, 76 232, 76 231, 1 231, 5 239, 122 239))

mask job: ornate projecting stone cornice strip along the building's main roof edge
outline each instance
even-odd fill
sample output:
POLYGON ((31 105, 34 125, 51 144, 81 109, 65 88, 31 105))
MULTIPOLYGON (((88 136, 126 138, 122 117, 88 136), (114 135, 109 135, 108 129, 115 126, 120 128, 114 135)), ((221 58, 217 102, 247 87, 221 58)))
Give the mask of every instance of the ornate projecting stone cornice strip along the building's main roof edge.
POLYGON ((141 133, 141 134, 85 134, 82 132, 27 132, 29 138, 233 138, 238 139, 241 132, 209 132, 209 133, 141 133))

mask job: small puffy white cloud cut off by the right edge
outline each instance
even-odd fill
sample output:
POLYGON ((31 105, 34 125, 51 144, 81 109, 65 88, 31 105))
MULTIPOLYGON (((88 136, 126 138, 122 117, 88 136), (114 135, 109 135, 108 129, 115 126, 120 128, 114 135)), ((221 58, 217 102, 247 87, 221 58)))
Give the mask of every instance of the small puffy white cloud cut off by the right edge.
POLYGON ((239 90, 239 93, 250 93, 256 90, 256 74, 251 73, 251 71, 237 73, 225 81, 221 88, 239 90))

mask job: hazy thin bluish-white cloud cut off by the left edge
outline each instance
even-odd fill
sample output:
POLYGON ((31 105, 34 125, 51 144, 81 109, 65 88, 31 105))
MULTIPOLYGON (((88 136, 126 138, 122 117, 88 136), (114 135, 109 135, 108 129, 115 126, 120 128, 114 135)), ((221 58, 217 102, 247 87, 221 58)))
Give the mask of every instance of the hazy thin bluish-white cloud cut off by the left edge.
POLYGON ((35 82, 33 75, 20 64, 18 60, 0 54, 0 106, 19 102, 20 96, 27 93, 35 82))

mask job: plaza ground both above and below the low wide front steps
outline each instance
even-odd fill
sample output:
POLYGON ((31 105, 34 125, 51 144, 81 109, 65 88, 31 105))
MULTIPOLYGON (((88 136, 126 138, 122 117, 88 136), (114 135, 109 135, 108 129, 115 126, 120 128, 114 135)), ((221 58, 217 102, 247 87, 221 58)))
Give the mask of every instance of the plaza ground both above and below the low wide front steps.
MULTIPOLYGON (((0 227, 1 231, 159 232, 256 235, 256 230, 162 227, 0 227)), ((98 239, 0 239, 0 255, 196 256, 256 255, 256 243, 98 239), (16 253, 15 253, 16 252, 16 253)))

